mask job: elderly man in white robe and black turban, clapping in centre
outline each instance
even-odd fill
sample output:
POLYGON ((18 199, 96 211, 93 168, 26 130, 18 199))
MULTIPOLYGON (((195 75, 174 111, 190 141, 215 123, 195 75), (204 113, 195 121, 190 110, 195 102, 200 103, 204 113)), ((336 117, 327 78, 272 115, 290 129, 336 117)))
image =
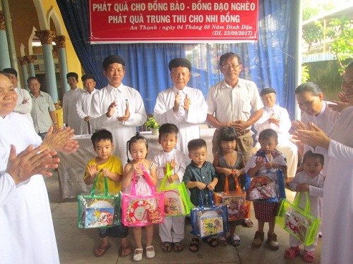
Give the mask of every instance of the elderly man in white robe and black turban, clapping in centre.
POLYGON ((191 63, 186 58, 169 62, 173 87, 160 92, 155 103, 158 124, 173 123, 179 128, 177 149, 189 156, 188 143, 200 138, 200 124, 205 122, 207 104, 199 89, 188 87, 191 63))

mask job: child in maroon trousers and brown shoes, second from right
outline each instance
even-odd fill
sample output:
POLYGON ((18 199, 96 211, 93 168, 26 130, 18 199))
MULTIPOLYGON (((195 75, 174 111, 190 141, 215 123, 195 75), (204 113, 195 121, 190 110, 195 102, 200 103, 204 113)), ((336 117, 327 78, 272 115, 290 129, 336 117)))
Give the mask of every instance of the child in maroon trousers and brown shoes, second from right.
MULTIPOLYGON (((246 163, 245 171, 250 177, 267 176, 273 182, 277 182, 277 170, 281 169, 283 173, 287 171, 285 156, 277 151, 275 147, 278 142, 278 135, 275 130, 267 129, 261 131, 258 136, 261 149, 256 152, 246 163)), ((255 217, 258 220, 258 231, 255 233, 252 245, 260 247, 263 243, 265 222, 268 222, 268 244, 270 249, 277 250, 279 248, 277 234, 275 234, 275 220, 280 203, 253 202, 255 217)))

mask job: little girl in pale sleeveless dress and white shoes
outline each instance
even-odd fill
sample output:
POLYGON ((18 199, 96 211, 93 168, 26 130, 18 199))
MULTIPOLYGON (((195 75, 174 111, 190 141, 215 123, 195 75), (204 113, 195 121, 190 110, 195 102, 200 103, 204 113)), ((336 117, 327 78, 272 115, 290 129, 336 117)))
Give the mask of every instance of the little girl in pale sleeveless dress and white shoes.
MULTIPOLYGON (((143 171, 140 168, 140 165, 143 165, 143 168, 150 175, 150 182, 152 184, 157 183, 157 168, 155 163, 148 161, 146 159, 148 153, 148 142, 145 137, 140 136, 137 132, 136 136, 131 137, 127 142, 126 156, 128 152, 131 154, 133 160, 130 161, 128 158, 128 163, 124 168, 124 178, 122 180, 122 187, 126 192, 131 191, 133 175, 136 173, 136 194, 137 195, 148 195, 150 194, 150 187, 146 182, 145 177, 143 176, 143 171)), ((146 257, 154 258, 155 257, 155 248, 152 246, 153 238, 153 225, 145 226, 146 230, 146 257)), ((136 249, 133 253, 133 260, 140 261, 143 257, 143 247, 142 247, 142 230, 141 227, 133 227, 133 238, 135 239, 136 249)))

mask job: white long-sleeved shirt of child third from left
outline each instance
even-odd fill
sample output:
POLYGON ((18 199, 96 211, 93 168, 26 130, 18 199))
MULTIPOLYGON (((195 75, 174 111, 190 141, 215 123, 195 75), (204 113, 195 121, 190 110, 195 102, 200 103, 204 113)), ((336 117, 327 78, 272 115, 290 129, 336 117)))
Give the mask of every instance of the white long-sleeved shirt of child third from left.
POLYGON ((172 175, 177 174, 179 176, 179 182, 183 182, 184 172, 186 166, 188 165, 188 161, 183 152, 173 149, 170 152, 160 151, 155 156, 155 164, 157 166, 157 187, 160 187, 160 183, 164 178, 164 168, 167 162, 175 161, 175 168, 172 170, 172 175))

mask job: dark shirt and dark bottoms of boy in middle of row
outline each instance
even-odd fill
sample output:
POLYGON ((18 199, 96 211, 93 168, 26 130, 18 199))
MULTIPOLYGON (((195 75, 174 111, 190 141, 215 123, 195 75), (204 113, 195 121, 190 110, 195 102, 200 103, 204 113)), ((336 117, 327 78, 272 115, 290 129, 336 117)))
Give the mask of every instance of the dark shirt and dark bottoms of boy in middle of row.
MULTIPOLYGON (((212 163, 210 163, 209 161, 205 161, 205 163, 203 163, 202 168, 197 168, 196 165, 194 165, 193 161, 191 161, 191 163, 186 166, 183 181, 185 182, 185 184, 190 181, 203 182, 204 184, 208 184, 212 182, 215 178, 218 178, 218 176, 216 174, 215 167, 213 167, 212 163)), ((198 206, 199 204, 200 191, 201 190, 198 189, 198 187, 190 189, 190 200, 194 206, 198 206)), ((205 188, 202 190, 202 192, 203 204, 205 205, 206 203, 210 203, 210 193, 208 189, 205 188)))

